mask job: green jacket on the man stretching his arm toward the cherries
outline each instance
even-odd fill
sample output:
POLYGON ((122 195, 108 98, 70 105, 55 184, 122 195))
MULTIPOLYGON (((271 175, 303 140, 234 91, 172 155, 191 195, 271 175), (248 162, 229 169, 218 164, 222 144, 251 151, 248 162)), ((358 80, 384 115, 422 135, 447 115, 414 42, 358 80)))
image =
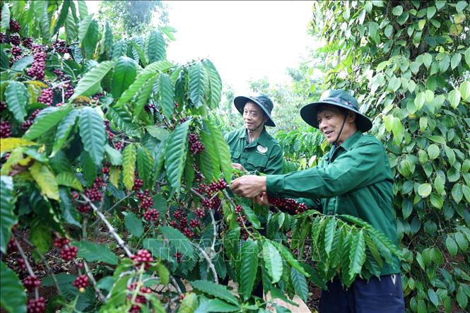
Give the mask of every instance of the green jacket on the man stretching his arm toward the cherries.
MULTIPOLYGON (((308 170, 269 175, 266 189, 271 195, 312 199, 324 214, 362 218, 398 247, 392 171, 382 143, 356 131, 336 148, 328 163, 329 154, 308 170)), ((384 263, 382 275, 399 273, 399 268, 395 258, 394 266, 384 263)))

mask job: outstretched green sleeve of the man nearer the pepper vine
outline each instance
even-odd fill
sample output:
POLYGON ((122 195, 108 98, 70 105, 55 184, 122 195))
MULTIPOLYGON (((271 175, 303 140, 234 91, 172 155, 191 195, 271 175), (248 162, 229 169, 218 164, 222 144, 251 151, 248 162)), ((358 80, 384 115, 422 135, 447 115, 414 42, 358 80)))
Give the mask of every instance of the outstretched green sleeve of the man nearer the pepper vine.
POLYGON ((384 172, 384 148, 379 141, 365 141, 325 167, 269 175, 266 189, 277 196, 331 198, 367 186, 384 172))

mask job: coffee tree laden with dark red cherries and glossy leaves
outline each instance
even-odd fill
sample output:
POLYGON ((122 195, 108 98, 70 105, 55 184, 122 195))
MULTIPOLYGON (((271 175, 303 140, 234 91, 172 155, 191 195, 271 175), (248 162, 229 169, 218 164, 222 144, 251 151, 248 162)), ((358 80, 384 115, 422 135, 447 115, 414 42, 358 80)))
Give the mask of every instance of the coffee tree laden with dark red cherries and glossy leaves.
POLYGON ((356 218, 235 199, 228 146, 208 117, 218 72, 208 59, 167 61, 159 30, 115 41, 84 1, 13 1, 1 6, 0 35, 7 311, 264 312, 259 283, 273 298, 307 300, 307 278, 349 285, 399 255, 356 218), (312 259, 334 266, 317 270, 289 249, 286 233, 307 223, 312 259), (46 303, 47 287, 57 295, 46 303))

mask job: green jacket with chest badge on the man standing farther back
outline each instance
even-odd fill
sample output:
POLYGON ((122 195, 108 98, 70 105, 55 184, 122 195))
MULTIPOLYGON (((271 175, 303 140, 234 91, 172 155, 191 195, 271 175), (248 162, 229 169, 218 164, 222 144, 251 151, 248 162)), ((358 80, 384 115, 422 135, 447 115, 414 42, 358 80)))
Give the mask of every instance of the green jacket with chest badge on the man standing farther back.
POLYGON ((225 136, 230 147, 233 163, 240 163, 248 172, 282 174, 283 157, 281 146, 263 129, 257 139, 248 143, 247 129, 231 131, 225 136))

